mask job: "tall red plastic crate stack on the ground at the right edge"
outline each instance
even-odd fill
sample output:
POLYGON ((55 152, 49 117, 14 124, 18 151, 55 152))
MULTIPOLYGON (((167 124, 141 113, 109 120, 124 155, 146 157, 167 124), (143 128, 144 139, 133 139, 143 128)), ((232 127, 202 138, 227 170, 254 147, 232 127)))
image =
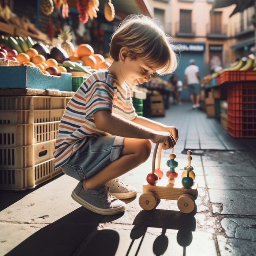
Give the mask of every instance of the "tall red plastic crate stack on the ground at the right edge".
POLYGON ((234 138, 256 138, 256 86, 234 82, 227 87, 227 131, 234 138))

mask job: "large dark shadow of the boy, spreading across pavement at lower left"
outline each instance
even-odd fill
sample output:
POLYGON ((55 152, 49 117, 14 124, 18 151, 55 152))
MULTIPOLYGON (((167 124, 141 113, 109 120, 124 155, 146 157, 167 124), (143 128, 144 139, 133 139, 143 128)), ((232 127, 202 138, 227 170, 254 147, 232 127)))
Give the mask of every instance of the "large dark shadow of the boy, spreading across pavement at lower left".
POLYGON ((97 227, 99 223, 114 221, 123 214, 103 216, 80 207, 40 229, 5 256, 113 256, 120 240, 118 233, 110 229, 97 230, 97 227))

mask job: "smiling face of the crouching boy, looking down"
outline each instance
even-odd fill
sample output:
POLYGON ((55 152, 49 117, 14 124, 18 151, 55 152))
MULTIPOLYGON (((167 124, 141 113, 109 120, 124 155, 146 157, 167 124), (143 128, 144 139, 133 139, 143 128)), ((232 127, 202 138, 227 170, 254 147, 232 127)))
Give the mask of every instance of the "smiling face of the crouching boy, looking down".
POLYGON ((123 79, 131 86, 148 82, 154 72, 153 67, 150 67, 141 59, 131 60, 129 57, 125 59, 124 66, 121 69, 123 79))

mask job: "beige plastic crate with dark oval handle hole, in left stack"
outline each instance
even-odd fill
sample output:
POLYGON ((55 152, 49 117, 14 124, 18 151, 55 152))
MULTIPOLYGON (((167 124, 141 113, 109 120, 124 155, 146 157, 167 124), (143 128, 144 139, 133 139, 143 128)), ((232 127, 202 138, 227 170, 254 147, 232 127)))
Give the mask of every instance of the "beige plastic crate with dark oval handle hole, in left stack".
POLYGON ((0 170, 24 169, 53 158, 55 140, 29 146, 0 146, 0 170))

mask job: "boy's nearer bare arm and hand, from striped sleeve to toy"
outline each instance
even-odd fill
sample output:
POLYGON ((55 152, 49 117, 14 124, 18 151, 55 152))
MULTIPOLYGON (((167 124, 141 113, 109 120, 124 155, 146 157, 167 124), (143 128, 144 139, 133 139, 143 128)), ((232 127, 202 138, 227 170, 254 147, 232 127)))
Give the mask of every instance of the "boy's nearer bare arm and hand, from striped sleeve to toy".
POLYGON ((148 139, 153 143, 163 143, 163 149, 174 147, 176 144, 172 134, 167 130, 154 131, 152 128, 136 124, 108 110, 94 113, 95 125, 101 131, 126 138, 148 139))

